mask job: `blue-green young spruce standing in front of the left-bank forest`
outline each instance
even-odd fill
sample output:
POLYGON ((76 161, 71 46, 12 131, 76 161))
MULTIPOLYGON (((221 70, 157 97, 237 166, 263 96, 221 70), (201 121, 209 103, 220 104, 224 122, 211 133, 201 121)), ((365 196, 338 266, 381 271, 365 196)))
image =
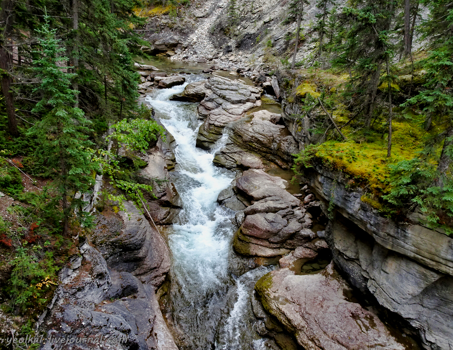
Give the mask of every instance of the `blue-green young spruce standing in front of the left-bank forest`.
POLYGON ((40 147, 35 156, 54 172, 54 185, 61 197, 63 209, 63 234, 67 233, 71 209, 75 201, 69 197, 77 192, 90 189, 93 179, 91 172, 95 165, 90 161, 91 152, 87 139, 88 120, 84 112, 74 107, 75 92, 70 88, 74 74, 67 73, 69 67, 59 62, 67 60, 62 56, 65 49, 55 38, 56 29, 51 29, 49 17, 45 15, 40 34, 39 58, 33 62, 33 71, 41 83, 35 93, 42 96, 32 112, 43 115, 28 135, 36 137, 40 147))

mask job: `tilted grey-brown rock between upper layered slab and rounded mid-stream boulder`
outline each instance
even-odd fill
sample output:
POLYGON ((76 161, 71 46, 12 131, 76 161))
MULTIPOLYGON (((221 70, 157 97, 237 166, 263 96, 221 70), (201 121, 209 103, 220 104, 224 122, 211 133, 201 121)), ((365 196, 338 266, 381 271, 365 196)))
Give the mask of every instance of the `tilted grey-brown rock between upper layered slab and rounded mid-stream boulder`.
POLYGON ((279 120, 279 114, 263 110, 253 113, 252 119, 234 122, 225 146, 215 154, 214 163, 229 169, 259 169, 270 161, 290 168, 298 146, 288 129, 276 124, 279 120))

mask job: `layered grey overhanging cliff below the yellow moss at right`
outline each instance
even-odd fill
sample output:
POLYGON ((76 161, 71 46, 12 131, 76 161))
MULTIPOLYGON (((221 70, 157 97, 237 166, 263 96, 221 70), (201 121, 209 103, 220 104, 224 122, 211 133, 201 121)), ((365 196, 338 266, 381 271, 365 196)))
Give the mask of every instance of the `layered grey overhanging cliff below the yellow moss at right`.
POLYGON ((453 239, 415 217, 398 223, 381 216, 361 202, 360 190, 317 170, 307 180, 319 199, 335 204, 326 240, 349 282, 405 318, 425 348, 453 348, 453 239))

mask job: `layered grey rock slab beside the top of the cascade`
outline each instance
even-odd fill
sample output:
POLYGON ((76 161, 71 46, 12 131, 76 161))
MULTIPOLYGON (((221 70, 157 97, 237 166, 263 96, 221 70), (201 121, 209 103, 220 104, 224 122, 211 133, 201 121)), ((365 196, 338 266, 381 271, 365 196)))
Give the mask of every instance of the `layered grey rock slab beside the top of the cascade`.
POLYGON ((216 76, 209 78, 204 87, 209 92, 198 106, 199 118, 205 121, 198 130, 197 147, 210 149, 228 123, 261 105, 263 89, 216 76))

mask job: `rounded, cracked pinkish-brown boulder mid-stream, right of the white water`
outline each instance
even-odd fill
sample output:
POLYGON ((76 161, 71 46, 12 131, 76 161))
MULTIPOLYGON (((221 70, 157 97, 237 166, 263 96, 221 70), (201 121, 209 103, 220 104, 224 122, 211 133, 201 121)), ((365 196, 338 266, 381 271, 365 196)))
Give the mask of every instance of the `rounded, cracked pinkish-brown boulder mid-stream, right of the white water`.
POLYGON ((284 190, 286 185, 285 180, 257 169, 244 171, 237 179, 238 195, 250 200, 234 237, 238 253, 261 257, 284 255, 317 237, 310 229, 311 215, 299 199, 284 190))

